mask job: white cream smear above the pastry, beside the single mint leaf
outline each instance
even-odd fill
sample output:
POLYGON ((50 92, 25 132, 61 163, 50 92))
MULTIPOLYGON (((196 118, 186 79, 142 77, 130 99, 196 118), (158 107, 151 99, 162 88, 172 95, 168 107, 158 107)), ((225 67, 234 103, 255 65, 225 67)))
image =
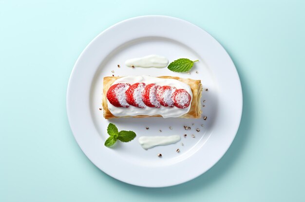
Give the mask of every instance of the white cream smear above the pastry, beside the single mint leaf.
POLYGON ((168 64, 169 64, 169 60, 166 57, 160 55, 147 55, 144 57, 128 59, 125 62, 125 65, 127 67, 143 67, 143 68, 149 68, 149 67, 163 68, 163 67, 167 67, 168 64))

